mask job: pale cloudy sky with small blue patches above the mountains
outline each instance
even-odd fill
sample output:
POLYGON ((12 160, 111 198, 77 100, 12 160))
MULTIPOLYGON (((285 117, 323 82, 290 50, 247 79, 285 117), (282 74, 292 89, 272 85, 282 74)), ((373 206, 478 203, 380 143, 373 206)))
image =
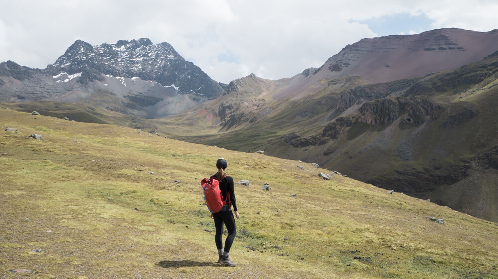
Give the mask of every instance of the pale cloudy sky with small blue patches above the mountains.
MULTIPOLYGON (((291 77, 362 38, 498 28, 496 0, 0 0, 0 62, 45 68, 77 39, 168 42, 216 81, 291 77)), ((498 49, 498 47, 497 47, 498 49)))

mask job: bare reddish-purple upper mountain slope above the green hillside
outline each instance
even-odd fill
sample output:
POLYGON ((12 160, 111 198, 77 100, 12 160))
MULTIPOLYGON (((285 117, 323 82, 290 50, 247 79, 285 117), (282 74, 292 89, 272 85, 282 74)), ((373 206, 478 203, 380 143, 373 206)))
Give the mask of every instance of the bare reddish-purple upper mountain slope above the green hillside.
POLYGON ((457 28, 362 39, 344 47, 306 80, 278 97, 299 94, 322 79, 359 75, 375 84, 455 69, 495 52, 497 41, 498 30, 457 28))

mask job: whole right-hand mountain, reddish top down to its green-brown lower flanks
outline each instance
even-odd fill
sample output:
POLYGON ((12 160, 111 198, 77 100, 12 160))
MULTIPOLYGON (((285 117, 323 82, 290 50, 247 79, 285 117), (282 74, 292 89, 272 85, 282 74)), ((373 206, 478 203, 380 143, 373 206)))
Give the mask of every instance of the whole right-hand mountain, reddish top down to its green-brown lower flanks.
POLYGON ((497 43, 496 31, 453 28, 364 39, 292 78, 234 80, 163 123, 180 139, 318 163, 498 221, 497 43), (330 67, 342 58, 349 65, 330 67))

